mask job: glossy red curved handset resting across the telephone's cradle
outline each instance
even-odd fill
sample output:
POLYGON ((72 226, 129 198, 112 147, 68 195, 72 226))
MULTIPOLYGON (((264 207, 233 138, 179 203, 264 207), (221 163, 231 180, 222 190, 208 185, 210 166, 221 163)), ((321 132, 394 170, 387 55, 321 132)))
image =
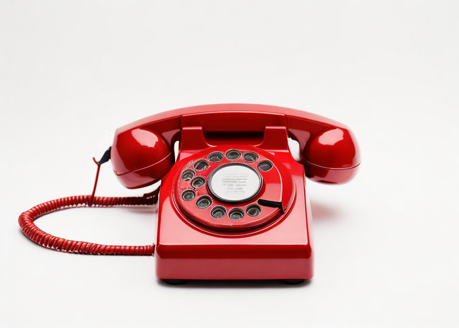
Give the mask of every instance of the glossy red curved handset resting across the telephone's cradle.
POLYGON ((288 136, 299 142, 306 174, 312 180, 344 183, 357 171, 360 151, 345 125, 299 110, 252 104, 176 109, 119 128, 112 147, 113 167, 124 186, 147 186, 170 169, 172 145, 180 140, 183 128, 201 127, 206 135, 260 135, 266 126, 285 127, 288 136))

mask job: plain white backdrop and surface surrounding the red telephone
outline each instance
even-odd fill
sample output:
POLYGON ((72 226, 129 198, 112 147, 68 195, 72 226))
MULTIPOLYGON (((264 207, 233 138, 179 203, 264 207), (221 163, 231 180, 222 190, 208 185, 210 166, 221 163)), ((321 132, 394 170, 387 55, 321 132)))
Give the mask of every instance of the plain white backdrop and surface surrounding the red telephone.
MULTIPOLYGON (((459 5, 454 1, 0 2, 0 325, 457 326, 459 5), (169 286, 153 257, 83 256, 25 238, 18 215, 92 190, 119 126, 215 103, 344 122, 363 161, 309 183, 308 284, 169 286)), ((110 165, 98 195, 126 190, 110 165)), ((153 208, 75 209, 54 235, 153 242, 153 208)))

